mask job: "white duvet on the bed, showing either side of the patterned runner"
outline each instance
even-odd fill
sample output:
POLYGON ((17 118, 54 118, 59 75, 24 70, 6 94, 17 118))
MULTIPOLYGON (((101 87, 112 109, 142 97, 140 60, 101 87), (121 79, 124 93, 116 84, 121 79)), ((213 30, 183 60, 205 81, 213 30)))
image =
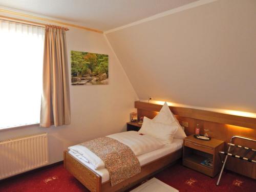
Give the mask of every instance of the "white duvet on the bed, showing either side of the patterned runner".
MULTIPOLYGON (((129 146, 135 156, 157 150, 164 146, 164 142, 159 139, 150 135, 141 135, 139 132, 135 131, 116 133, 106 137, 116 139, 129 146)), ((73 145, 69 147, 69 150, 71 150, 79 159, 90 163, 95 169, 105 167, 104 162, 85 146, 79 144, 73 145)))

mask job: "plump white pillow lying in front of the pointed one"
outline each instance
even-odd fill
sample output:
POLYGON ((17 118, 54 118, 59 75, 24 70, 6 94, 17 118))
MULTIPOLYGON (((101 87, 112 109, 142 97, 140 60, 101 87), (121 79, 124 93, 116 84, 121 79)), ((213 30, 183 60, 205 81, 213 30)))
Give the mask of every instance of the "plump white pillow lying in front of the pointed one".
POLYGON ((172 143, 177 130, 178 126, 176 124, 163 124, 144 117, 139 132, 160 139, 164 143, 172 143))

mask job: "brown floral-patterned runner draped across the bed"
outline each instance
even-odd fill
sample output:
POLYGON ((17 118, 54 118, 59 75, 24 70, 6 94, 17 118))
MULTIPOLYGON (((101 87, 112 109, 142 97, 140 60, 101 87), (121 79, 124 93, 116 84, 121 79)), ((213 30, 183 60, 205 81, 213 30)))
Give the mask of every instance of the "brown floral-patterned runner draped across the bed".
POLYGON ((115 139, 100 137, 80 145, 87 147, 104 162, 112 186, 140 173, 139 160, 131 148, 115 139))

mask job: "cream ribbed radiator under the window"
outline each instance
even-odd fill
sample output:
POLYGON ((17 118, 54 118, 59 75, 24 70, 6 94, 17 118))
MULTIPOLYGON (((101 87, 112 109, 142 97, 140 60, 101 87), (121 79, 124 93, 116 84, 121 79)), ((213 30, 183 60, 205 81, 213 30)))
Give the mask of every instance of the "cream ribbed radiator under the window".
POLYGON ((47 133, 0 142, 0 179, 48 164, 47 133))

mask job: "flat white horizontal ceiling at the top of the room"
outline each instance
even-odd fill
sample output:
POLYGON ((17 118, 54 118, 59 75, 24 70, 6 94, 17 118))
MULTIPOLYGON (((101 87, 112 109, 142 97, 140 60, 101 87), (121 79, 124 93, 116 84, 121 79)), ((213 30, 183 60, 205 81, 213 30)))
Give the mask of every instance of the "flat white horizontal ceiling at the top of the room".
POLYGON ((0 0, 0 6, 109 30, 197 0, 0 0))

